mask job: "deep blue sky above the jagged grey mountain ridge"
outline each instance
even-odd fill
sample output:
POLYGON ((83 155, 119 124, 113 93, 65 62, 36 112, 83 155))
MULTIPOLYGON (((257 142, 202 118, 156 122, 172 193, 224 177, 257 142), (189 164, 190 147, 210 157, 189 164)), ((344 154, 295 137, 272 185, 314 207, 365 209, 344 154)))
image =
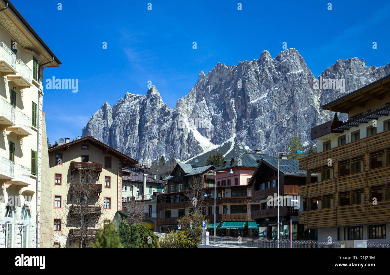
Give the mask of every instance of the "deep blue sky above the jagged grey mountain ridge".
POLYGON ((242 10, 229 0, 61 1, 58 10, 59 1, 12 1, 62 62, 44 69, 44 81, 78 79, 77 93, 44 87, 51 143, 81 135, 106 101, 113 106, 126 92, 146 94, 148 81, 174 108, 200 71, 257 59, 264 50, 275 58, 284 41, 315 76, 340 58, 377 67, 390 62, 389 1, 239 0, 242 10))

